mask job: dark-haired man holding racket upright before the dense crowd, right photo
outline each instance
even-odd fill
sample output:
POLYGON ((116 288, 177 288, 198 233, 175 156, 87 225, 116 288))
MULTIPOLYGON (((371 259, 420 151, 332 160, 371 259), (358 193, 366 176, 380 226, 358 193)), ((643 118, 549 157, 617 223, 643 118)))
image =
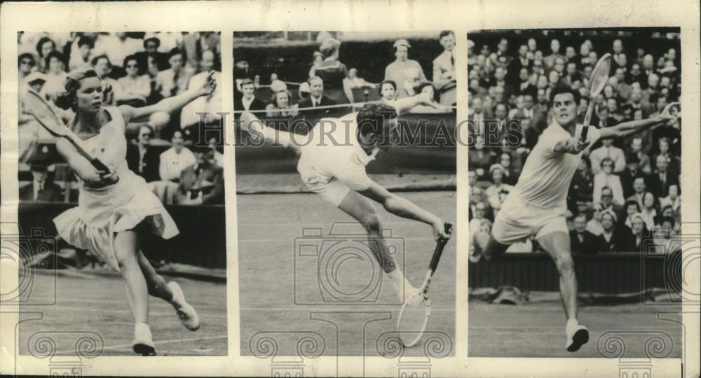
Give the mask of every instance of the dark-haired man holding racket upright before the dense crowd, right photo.
POLYGON ((577 279, 565 222, 567 191, 582 153, 598 139, 628 137, 674 118, 669 113, 672 106, 669 104, 654 118, 600 130, 588 127, 587 138, 583 140, 583 125, 577 123, 579 100, 580 93, 569 86, 562 85, 552 90, 552 123, 540 135, 526 159, 518 183, 494 219, 491 235, 479 231, 473 240, 477 251, 489 259, 506 251, 510 244, 535 235, 538 244, 554 260, 560 275, 568 351, 578 351, 589 340, 589 330, 577 321, 577 279))

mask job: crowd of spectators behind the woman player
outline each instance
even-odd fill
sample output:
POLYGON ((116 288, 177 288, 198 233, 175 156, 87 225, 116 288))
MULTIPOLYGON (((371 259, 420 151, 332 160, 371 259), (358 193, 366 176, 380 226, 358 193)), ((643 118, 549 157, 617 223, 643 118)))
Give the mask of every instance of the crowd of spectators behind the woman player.
MULTIPOLYGON (((20 200, 72 201, 76 195, 67 190, 74 180, 62 172, 55 138, 25 111, 27 90, 53 104, 67 73, 90 66, 102 79, 104 106, 148 106, 201 86, 210 71, 221 82, 219 39, 215 32, 18 34, 20 200), (31 179, 22 180, 22 167, 31 179)), ((222 140, 203 138, 205 129, 221 127, 222 109, 217 89, 177 113, 127 125, 128 166, 164 203, 224 203, 222 140), (199 113, 207 113, 204 122, 199 113)), ((74 116, 57 106, 54 111, 66 123, 74 116)))

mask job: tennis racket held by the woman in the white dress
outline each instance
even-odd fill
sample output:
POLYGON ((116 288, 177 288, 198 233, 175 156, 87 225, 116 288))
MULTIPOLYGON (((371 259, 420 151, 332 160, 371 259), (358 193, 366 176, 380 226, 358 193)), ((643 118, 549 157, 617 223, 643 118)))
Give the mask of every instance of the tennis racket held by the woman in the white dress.
POLYGON ((46 99, 41 97, 41 94, 34 90, 27 90, 27 94, 23 98, 25 101, 24 111, 31 114, 36 118, 39 125, 41 125, 46 131, 57 138, 63 138, 69 141, 78 151, 83 158, 88 159, 90 164, 93 165, 98 171, 109 173, 109 168, 104 165, 95 156, 90 155, 83 141, 72 132, 58 116, 54 113, 51 106, 46 102, 46 99))

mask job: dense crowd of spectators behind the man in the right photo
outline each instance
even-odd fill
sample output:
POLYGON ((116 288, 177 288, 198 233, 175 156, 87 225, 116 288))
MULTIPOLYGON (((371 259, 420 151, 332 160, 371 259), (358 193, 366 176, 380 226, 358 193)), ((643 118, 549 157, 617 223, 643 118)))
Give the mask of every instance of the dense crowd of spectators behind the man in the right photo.
MULTIPOLYGON (((606 52, 613 55, 612 67, 606 87, 591 100, 592 125, 611 127, 653 117, 669 102, 679 101, 679 34, 590 31, 580 38, 561 35, 568 41, 564 48, 559 36, 547 31, 484 38, 492 43, 479 42, 482 37, 468 40, 470 132, 476 141, 469 151, 471 232, 491 228, 531 148, 550 124, 550 90, 556 85, 579 90, 583 122, 590 74, 606 52), (483 120, 498 120, 499 127, 519 121, 520 146, 487 145, 483 120)), ((592 146, 567 197, 572 251, 670 253, 679 248, 672 240, 681 222, 680 163, 681 118, 592 146)), ((509 251, 538 250, 531 239, 509 251)))

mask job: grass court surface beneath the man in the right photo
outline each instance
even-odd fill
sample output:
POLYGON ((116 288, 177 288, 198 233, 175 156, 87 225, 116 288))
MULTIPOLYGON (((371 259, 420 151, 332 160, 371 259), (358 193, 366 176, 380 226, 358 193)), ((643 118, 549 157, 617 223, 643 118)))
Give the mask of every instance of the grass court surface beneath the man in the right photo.
POLYGON ((661 319, 681 321, 679 304, 580 304, 579 321, 589 328, 590 339, 574 353, 565 350, 565 318, 559 302, 510 306, 471 301, 469 308, 470 357, 601 358, 610 356, 607 353, 615 350, 617 341, 612 337, 618 337, 625 344, 623 358, 646 358, 646 342, 654 342, 655 339, 662 340, 662 344, 658 344, 660 349, 653 353, 659 356, 659 353, 669 351, 668 358, 681 358, 681 325, 661 319), (665 314, 660 314, 658 318, 658 312, 665 314), (600 337, 599 351, 597 341, 600 337), (604 347, 606 339, 610 344, 604 347))

